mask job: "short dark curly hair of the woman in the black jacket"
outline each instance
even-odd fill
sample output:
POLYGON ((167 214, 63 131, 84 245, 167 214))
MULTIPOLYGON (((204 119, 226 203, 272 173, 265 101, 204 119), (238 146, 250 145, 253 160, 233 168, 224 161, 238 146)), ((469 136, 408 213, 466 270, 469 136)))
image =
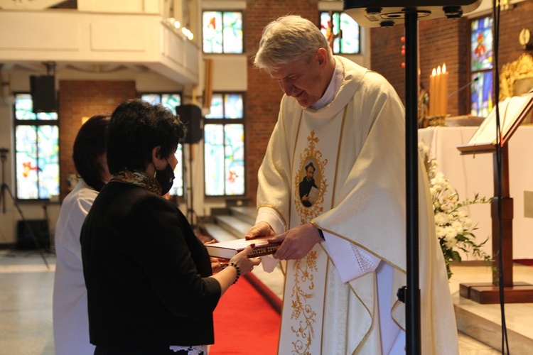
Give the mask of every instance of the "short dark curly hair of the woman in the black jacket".
POLYGON ((141 99, 122 102, 113 111, 107 131, 109 173, 145 170, 152 161, 152 150, 161 146, 160 157, 167 157, 185 136, 185 125, 161 104, 141 99))

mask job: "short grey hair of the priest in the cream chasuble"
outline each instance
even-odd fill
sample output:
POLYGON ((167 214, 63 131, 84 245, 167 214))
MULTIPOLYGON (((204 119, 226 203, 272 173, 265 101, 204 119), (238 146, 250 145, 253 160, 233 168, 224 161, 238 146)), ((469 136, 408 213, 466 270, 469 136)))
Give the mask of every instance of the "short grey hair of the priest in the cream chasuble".
POLYGON ((301 16, 281 16, 265 26, 254 65, 274 70, 294 60, 309 63, 319 48, 332 58, 328 40, 314 23, 301 16))

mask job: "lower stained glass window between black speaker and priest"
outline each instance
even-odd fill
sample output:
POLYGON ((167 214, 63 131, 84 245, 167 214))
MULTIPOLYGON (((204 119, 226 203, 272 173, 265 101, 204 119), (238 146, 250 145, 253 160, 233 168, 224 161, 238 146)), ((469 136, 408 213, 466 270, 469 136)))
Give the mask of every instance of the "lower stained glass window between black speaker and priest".
POLYGON ((215 93, 204 124, 205 195, 244 195, 243 95, 215 93))

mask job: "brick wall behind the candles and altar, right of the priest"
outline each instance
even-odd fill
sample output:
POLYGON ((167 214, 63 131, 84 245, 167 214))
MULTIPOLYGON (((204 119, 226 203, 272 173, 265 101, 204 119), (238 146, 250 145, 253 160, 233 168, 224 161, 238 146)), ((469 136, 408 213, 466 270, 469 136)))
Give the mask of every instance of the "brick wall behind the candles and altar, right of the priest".
MULTIPOLYGON (((522 28, 533 30, 533 1, 526 0, 510 6, 500 14, 500 50, 498 67, 516 60, 528 52, 519 45, 518 35, 522 28)), ((419 21, 419 60, 421 84, 429 89, 431 70, 446 62, 448 92, 452 93, 469 82, 468 56, 470 50, 470 23, 467 18, 448 20, 438 18, 419 21)), ((400 53, 404 26, 372 28, 372 70, 382 73, 405 98, 404 57, 400 53)), ((532 51, 529 51, 532 53, 532 51)), ((468 87, 448 99, 448 114, 468 114, 468 87)))

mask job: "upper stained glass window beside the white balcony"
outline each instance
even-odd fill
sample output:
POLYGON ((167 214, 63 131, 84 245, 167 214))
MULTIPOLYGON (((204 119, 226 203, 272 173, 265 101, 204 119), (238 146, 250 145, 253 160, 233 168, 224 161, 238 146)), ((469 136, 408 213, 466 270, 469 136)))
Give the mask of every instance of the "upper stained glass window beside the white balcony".
POLYGON ((242 53, 242 12, 203 11, 203 52, 242 53))

